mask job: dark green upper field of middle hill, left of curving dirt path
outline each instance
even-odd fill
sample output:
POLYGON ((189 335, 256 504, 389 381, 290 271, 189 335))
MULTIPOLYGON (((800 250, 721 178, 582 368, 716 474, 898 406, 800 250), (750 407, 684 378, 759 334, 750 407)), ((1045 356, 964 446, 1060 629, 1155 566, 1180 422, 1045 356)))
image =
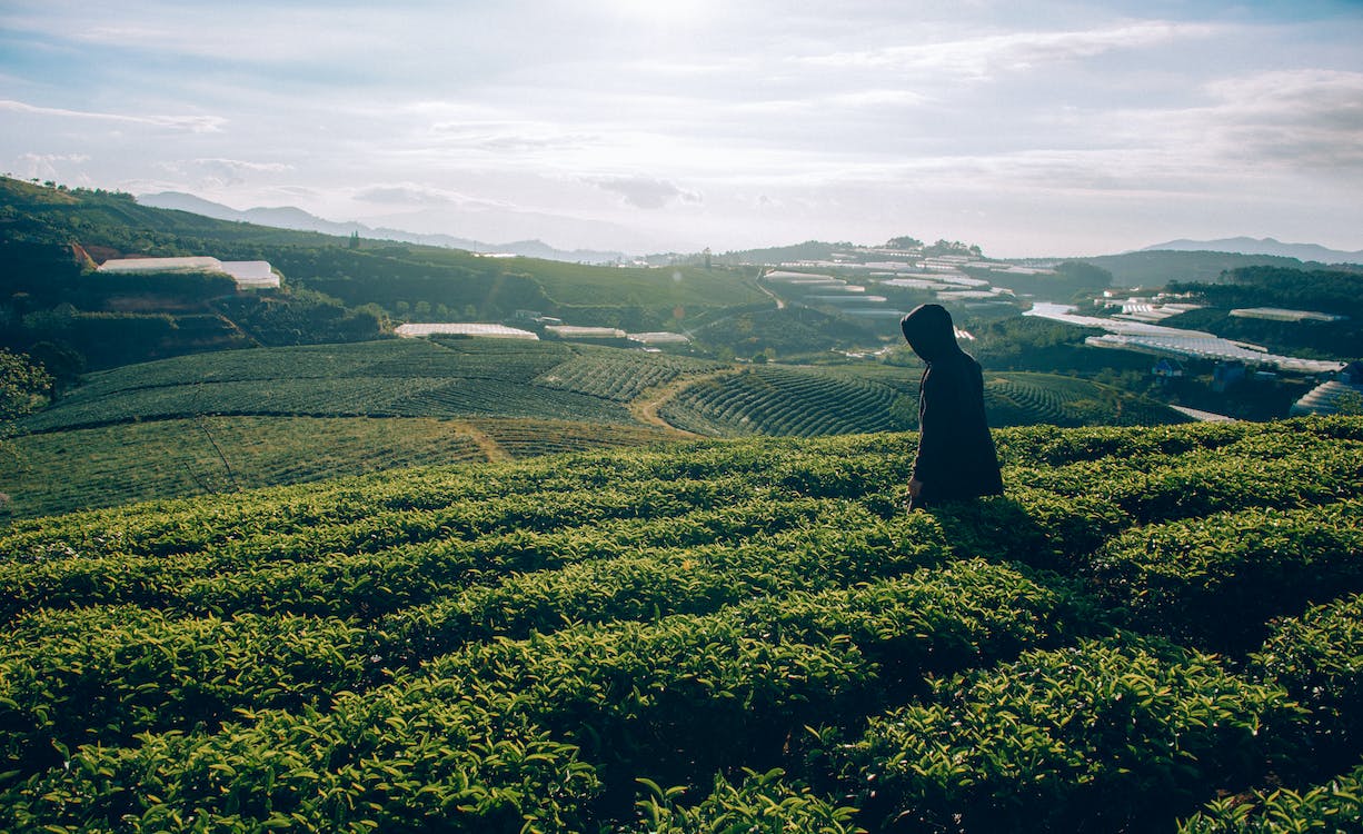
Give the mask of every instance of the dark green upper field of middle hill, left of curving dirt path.
POLYGON ((601 377, 596 387, 612 386, 612 372, 622 384, 634 384, 634 365, 676 372, 662 361, 577 358, 562 346, 495 339, 229 350, 94 375, 53 407, 25 420, 22 428, 50 432, 195 414, 572 417, 630 422, 624 409, 612 407, 607 397, 589 395, 596 391, 532 383, 564 362, 570 368, 604 362, 596 372, 601 377))

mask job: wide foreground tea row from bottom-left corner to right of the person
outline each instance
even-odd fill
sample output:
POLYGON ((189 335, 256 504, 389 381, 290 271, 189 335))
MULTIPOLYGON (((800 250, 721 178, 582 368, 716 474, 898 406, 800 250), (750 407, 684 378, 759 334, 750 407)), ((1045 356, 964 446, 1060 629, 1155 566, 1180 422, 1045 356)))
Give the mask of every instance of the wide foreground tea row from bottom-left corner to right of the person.
POLYGON ((857 714, 880 696, 878 657, 921 681, 1082 620, 1014 571, 964 563, 706 616, 575 626, 470 646, 326 711, 248 711, 218 732, 70 751, 7 790, 0 823, 583 830, 623 808, 637 774, 709 779, 735 750, 755 763, 801 724, 857 714))

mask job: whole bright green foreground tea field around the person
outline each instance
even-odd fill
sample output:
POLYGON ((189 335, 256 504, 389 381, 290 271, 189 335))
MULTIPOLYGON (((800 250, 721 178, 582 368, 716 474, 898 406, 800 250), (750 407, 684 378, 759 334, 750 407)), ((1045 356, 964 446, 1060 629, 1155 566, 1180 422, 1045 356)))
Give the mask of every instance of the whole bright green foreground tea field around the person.
POLYGON ((0 830, 1359 830, 1363 420, 996 439, 15 522, 0 830))

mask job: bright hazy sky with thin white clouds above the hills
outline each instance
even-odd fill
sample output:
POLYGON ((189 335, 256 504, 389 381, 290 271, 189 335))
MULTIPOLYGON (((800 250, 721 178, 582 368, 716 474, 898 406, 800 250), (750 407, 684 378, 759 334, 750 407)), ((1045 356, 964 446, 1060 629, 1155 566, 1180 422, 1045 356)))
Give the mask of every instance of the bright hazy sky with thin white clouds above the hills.
POLYGON ((0 0, 0 172, 485 243, 1363 249, 1363 0, 0 0))

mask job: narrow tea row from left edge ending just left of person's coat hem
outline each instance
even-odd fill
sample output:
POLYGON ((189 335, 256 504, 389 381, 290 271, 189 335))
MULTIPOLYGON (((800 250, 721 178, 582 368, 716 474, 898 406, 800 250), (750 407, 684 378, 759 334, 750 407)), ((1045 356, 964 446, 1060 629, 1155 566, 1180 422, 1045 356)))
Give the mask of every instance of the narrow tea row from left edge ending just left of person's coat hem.
MULTIPOLYGON (((8 617, 35 608, 138 604, 189 612, 373 617, 510 571, 545 570, 641 548, 733 542, 834 510, 818 500, 750 500, 694 512, 680 506, 676 516, 656 514, 639 522, 627 495, 598 492, 593 495, 596 504, 587 507, 572 499, 545 496, 537 503, 503 506, 500 512, 487 507, 491 523, 469 538, 448 536, 457 525, 468 530, 473 522, 468 516, 406 514, 405 521, 390 516, 380 526, 361 522, 334 529, 330 538, 264 534, 199 553, 10 563, 0 566, 0 612, 8 617)), ((840 515, 845 514, 830 518, 840 515)))

